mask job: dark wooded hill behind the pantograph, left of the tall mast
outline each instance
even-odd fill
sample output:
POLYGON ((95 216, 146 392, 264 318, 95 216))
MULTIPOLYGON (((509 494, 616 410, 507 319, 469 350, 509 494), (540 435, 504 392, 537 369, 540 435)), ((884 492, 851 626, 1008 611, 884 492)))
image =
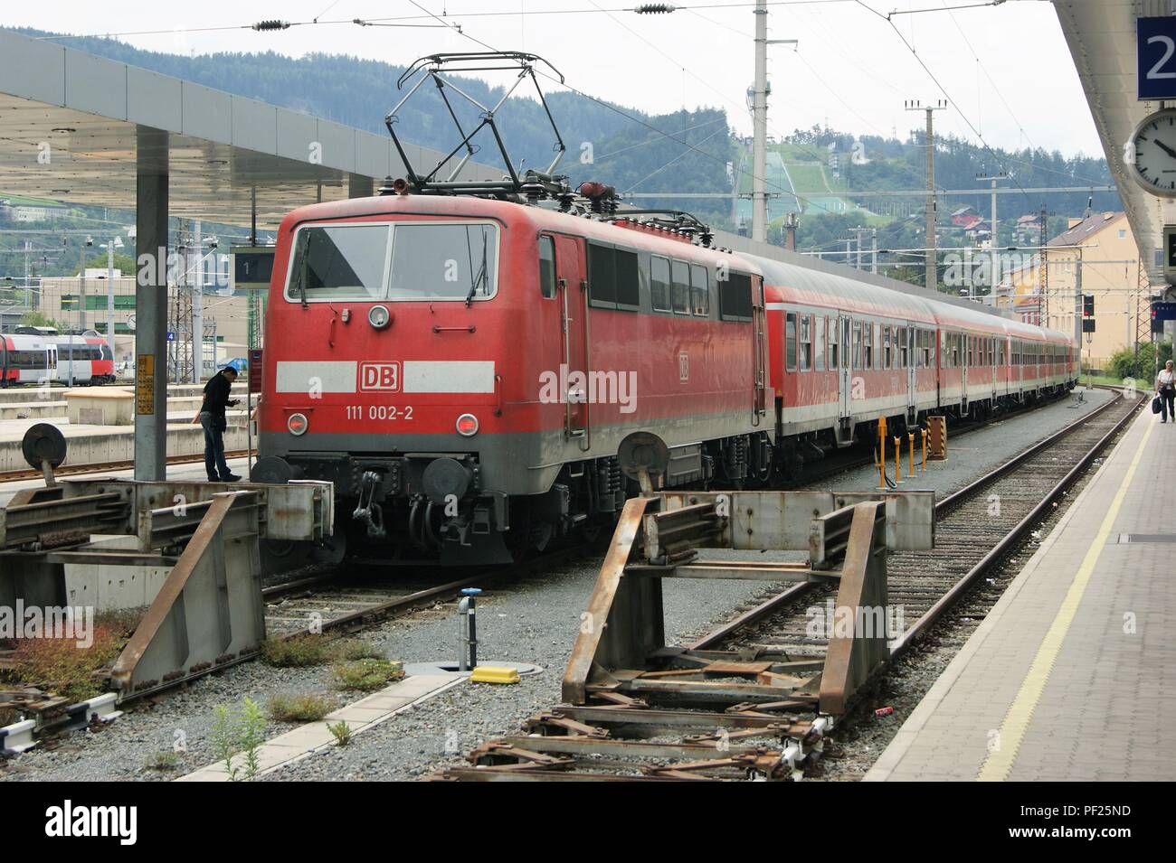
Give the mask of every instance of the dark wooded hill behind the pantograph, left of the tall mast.
MULTIPOLYGON (((51 35, 31 29, 19 32, 51 35)), ((379 135, 388 134, 383 119, 403 96, 403 92, 396 89, 402 67, 346 55, 310 54, 294 59, 267 52, 185 56, 141 50, 113 39, 69 39, 66 43, 112 60, 379 135)), ((412 58, 406 53, 405 59, 412 58)), ((482 104, 492 106, 501 97, 502 89, 492 88, 485 81, 455 80, 482 104)), ((499 81, 507 82, 508 77, 500 76, 495 83, 499 81)), ((731 157, 731 144, 723 112, 704 109, 652 116, 635 108, 610 107, 570 93, 542 76, 539 82, 567 146, 560 170, 567 173, 573 183, 600 180, 617 189, 636 184, 641 191, 729 190, 727 162, 731 157), (668 133, 677 140, 660 133, 668 133), (696 146, 699 151, 679 141, 696 146), (659 170, 671 161, 668 168, 659 170)), ((532 86, 524 82, 517 92, 526 94, 528 88, 533 92, 532 86)), ((450 99, 461 112, 468 130, 470 121, 476 122, 475 109, 456 94, 450 93, 450 99)), ((399 116, 396 132, 412 143, 448 151, 460 141, 433 87, 422 87, 399 116)), ((512 99, 499 113, 499 121, 516 167, 521 162, 524 168, 542 169, 550 163, 555 139, 542 106, 534 97, 523 95, 512 99)), ((475 159, 501 167, 488 132, 483 132, 477 141, 481 142, 481 150, 475 159)), ((642 203, 647 204, 656 205, 656 202, 642 203)), ((717 202, 702 204, 694 209, 726 209, 727 213, 730 209, 729 204, 720 205, 717 202)))

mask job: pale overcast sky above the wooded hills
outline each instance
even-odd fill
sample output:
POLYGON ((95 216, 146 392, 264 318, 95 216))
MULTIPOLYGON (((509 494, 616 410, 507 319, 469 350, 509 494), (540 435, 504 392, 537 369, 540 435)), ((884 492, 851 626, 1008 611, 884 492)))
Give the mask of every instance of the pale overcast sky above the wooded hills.
MULTIPOLYGON (((1058 149, 1101 155, 1102 148, 1053 5, 1009 0, 996 7, 898 14, 976 0, 854 0, 773 4, 770 39, 799 39, 799 48, 769 48, 774 134, 826 123, 857 134, 906 137, 922 114, 903 110, 907 99, 951 100, 937 129, 991 146, 1058 149), (901 33, 901 36, 900 36, 901 33), (914 46, 926 70, 910 49, 914 46)), ((5 22, 79 34, 173 31, 121 35, 138 47, 174 53, 275 50, 353 54, 405 63, 442 50, 479 50, 476 43, 428 18, 446 14, 466 34, 495 48, 547 58, 568 83, 595 96, 652 113, 681 107, 726 108, 736 129, 750 134, 746 90, 754 75, 754 14, 740 0, 683 0, 673 14, 616 11, 633 0, 283 0, 199 4, 59 0, 6 9, 5 22), (702 8, 728 5, 728 8, 702 8), (597 11, 608 9, 608 12, 597 11), (564 11, 553 14, 553 11, 564 11), (487 14, 496 13, 496 14, 487 14), (507 14, 502 14, 507 13, 507 14), (520 14, 524 13, 524 14, 520 14), (389 28, 329 23, 406 18, 429 27, 389 28), (262 19, 312 21, 276 33, 201 31, 262 19), (654 47, 655 46, 655 47, 654 47), (683 70, 684 67, 684 70, 683 70)), ((66 42, 68 43, 68 41, 66 42)), ((381 115, 390 107, 373 104, 381 115)))

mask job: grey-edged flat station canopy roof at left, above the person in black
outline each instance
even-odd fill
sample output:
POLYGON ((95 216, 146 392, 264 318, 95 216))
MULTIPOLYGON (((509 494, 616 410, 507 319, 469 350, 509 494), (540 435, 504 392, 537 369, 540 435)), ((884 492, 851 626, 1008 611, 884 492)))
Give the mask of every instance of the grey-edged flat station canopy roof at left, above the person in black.
MULTIPOLYGON (((256 190, 259 229, 276 228, 295 207, 353 187, 367 195, 405 173, 387 135, 11 31, 0 29, 0 195, 134 210, 142 130, 168 133, 173 216, 248 225, 256 190)), ((405 149, 414 166, 441 157, 405 149)), ((474 163, 462 174, 501 175, 474 163)))

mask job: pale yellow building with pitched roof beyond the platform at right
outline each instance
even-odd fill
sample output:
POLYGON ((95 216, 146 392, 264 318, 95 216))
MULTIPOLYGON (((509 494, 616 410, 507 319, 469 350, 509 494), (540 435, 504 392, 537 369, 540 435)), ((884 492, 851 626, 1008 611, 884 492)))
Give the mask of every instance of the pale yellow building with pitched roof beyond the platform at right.
POLYGON ((1071 218, 1041 256, 1027 256, 998 285, 994 302, 1020 321, 1073 333, 1080 294, 1094 296, 1095 331, 1082 339, 1083 365, 1105 368, 1111 355, 1150 341, 1150 288, 1124 213, 1071 218), (1081 270, 1081 276, 1080 276, 1081 270), (1081 289, 1078 278, 1081 277, 1081 289))

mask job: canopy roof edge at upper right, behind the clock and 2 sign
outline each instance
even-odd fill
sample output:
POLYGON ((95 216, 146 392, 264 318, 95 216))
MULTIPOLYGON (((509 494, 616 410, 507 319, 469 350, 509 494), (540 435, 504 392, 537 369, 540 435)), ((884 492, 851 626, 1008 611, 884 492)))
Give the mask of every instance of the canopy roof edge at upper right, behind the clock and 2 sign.
POLYGON ((1164 224, 1176 223, 1176 201, 1136 183, 1123 161, 1135 127, 1160 102, 1137 99, 1135 21, 1172 14, 1171 0, 1054 0, 1078 79, 1085 90, 1111 176, 1152 283, 1162 283, 1157 259, 1164 224))

